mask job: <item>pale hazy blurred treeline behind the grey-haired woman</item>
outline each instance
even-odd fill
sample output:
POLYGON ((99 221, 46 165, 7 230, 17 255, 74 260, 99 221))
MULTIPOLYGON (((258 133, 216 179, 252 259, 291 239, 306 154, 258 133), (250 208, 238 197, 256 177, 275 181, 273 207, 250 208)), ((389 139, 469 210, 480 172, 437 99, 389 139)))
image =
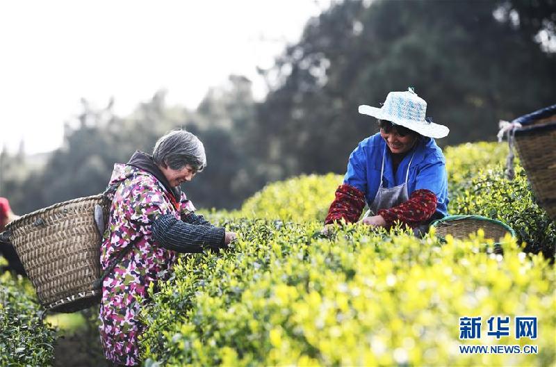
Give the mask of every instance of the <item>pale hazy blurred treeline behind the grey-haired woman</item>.
POLYGON ((31 170, 22 154, 0 154, 1 193, 17 213, 104 191, 114 163, 125 163, 136 150, 152 153, 156 140, 172 129, 191 131, 204 142, 208 168, 183 188, 197 207, 231 209, 257 190, 254 165, 244 132, 254 125, 251 82, 231 76, 229 83, 208 93, 197 111, 167 106, 165 92, 138 105, 131 115, 113 114, 114 101, 93 108, 83 100, 82 112, 65 126, 63 147, 44 168, 31 170))

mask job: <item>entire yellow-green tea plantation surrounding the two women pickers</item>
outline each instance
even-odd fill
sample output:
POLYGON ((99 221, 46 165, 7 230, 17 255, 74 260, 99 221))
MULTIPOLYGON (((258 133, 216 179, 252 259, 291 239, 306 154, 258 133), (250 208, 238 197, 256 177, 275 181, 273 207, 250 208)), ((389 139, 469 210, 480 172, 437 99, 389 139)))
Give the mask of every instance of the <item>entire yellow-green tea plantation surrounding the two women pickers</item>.
MULTIPOLYGON (((208 213, 240 239, 220 254, 181 256, 172 279, 150 290, 145 366, 554 365, 556 229, 518 162, 516 178, 504 178, 506 154, 486 142, 445 149, 450 213, 510 225, 517 238, 502 240, 503 256, 482 231, 462 241, 347 225, 323 236, 337 174, 272 183, 239 211, 208 213), (488 334, 491 316, 509 317, 509 336, 488 334), (516 338, 518 316, 537 317, 536 339, 516 338), (463 317, 481 317, 479 338, 460 339, 463 317), (537 353, 461 353, 466 345, 537 353)), ((10 282, 0 285, 0 322, 14 323, 15 301, 2 296, 10 282)), ((17 307, 18 320, 36 321, 35 304, 17 307)), ((0 365, 49 363, 51 329, 33 325, 41 343, 2 327, 0 347, 24 349, 0 365)))

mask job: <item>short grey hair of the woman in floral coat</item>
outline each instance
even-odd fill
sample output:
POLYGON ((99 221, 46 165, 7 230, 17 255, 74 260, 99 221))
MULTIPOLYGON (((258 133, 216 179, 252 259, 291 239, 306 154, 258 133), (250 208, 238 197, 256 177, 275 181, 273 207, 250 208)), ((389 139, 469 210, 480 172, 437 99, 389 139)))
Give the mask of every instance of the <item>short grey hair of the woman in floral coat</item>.
POLYGON ((157 165, 181 170, 190 165, 197 172, 206 167, 204 146, 197 136, 185 130, 174 130, 162 136, 154 145, 152 158, 157 165))

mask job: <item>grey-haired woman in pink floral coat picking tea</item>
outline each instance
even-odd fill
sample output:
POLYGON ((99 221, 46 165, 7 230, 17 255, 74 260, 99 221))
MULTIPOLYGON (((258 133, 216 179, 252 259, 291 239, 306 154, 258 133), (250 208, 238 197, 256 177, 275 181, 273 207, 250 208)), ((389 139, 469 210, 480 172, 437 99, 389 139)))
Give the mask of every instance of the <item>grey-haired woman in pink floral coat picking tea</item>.
POLYGON ((236 238, 196 215, 179 188, 205 166, 202 142, 182 130, 160 138, 152 156, 135 152, 128 163, 114 165, 108 186, 110 217, 101 245, 107 274, 99 329, 104 354, 115 365, 140 363, 140 299, 147 297, 150 284, 167 279, 177 252, 218 251, 236 238))

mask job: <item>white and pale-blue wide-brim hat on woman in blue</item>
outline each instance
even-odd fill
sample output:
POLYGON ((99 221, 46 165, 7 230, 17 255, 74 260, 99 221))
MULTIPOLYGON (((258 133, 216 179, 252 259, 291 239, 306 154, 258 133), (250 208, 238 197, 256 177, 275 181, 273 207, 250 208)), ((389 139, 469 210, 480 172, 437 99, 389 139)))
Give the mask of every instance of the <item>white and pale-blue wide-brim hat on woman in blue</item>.
POLYGON ((416 131, 422 136, 435 139, 447 136, 450 129, 444 125, 427 121, 426 112, 427 102, 425 102, 425 99, 418 97, 413 88, 408 88, 407 92, 389 92, 381 108, 365 104, 359 106, 359 113, 363 115, 388 120, 393 124, 416 131))

